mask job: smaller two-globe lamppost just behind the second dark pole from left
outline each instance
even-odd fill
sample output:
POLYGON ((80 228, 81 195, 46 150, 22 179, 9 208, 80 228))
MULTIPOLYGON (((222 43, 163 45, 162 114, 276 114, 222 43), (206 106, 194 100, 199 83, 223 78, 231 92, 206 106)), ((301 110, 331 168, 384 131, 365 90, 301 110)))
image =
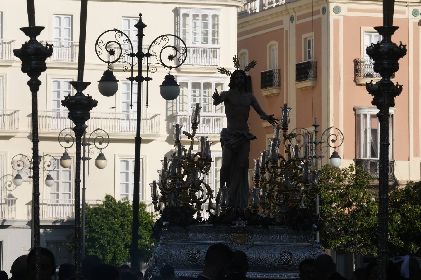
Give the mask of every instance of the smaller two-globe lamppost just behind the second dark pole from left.
MULTIPOLYGON (((97 128, 89 134, 88 142, 86 142, 86 128, 87 125, 83 125, 85 131, 83 131, 83 178, 82 178, 82 253, 81 258, 85 258, 85 208, 86 208, 86 161, 88 160, 88 176, 89 176, 89 154, 93 154, 95 149, 99 151, 98 157, 95 159, 95 166, 99 169, 104 169, 107 166, 107 159, 105 158, 102 150, 107 148, 109 144, 109 136, 107 131, 97 128), (88 146, 88 157, 86 157, 86 146, 88 146), (92 147, 90 147, 92 146, 92 147)), ((72 158, 67 153, 67 150, 73 148, 75 144, 75 137, 73 136, 73 128, 64 128, 59 133, 59 144, 64 148, 64 153, 60 158, 60 165, 64 168, 69 168, 72 165, 72 158)))

